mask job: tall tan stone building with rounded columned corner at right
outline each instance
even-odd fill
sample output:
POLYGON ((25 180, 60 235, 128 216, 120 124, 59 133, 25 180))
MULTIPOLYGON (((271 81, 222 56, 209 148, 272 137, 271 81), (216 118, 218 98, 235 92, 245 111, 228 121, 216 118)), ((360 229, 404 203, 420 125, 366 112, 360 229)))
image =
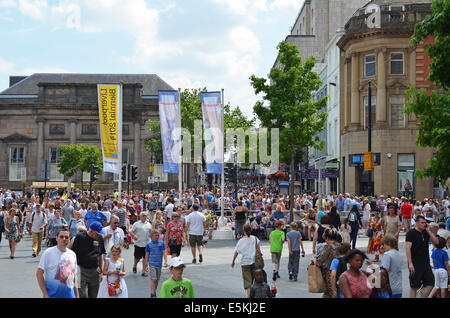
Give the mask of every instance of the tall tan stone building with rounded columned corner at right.
MULTIPOLYGON (((414 26, 431 12, 428 0, 373 0, 356 11, 337 45, 340 63, 340 168, 342 192, 367 194, 368 85, 372 86, 372 174, 375 194, 433 193, 433 180, 416 179, 432 149, 415 145, 416 118, 404 113, 409 85, 423 84, 423 47, 410 44, 414 26)), ((423 86, 423 85, 422 85, 423 86)))

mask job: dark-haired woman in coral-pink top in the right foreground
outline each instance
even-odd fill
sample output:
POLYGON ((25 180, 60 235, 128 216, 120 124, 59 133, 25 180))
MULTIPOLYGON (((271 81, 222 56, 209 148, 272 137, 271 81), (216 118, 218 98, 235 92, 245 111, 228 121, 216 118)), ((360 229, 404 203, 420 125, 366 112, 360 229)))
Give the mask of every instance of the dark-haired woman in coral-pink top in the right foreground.
POLYGON ((358 249, 351 250, 344 261, 350 268, 339 278, 339 288, 344 298, 369 298, 372 288, 369 287, 366 273, 361 270, 367 256, 358 249))

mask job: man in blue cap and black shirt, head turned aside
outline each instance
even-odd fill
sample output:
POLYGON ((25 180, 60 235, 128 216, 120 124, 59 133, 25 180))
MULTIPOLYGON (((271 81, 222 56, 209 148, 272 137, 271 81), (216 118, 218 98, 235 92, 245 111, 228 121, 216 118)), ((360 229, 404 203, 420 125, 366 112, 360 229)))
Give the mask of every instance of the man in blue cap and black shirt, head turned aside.
POLYGON ((73 242, 72 250, 81 271, 80 298, 97 298, 103 254, 106 253, 102 235, 102 225, 93 221, 89 230, 78 233, 73 242))

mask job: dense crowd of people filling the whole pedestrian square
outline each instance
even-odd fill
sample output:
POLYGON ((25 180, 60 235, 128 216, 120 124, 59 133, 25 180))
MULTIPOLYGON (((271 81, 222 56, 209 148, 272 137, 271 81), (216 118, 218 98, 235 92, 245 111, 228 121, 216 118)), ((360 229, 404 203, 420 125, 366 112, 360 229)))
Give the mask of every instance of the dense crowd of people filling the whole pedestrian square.
MULTIPOLYGON (((445 297, 448 289, 450 198, 442 201, 410 200, 383 195, 303 193, 289 197, 271 186, 226 187, 225 218, 220 218, 220 188, 136 191, 89 196, 54 189, 42 195, 27 191, 16 195, 0 191, 0 240, 9 242, 10 258, 24 235, 32 237, 32 257, 45 249, 36 273, 44 297, 128 297, 122 249, 134 246, 132 271, 150 276, 150 297, 162 267, 172 278, 161 285, 159 297, 194 297, 190 280, 183 278, 184 245, 191 247, 192 263, 202 263, 207 237, 222 227, 234 229, 240 254, 244 289, 249 297, 274 297, 280 279, 284 243, 289 251, 289 279, 297 281, 304 241, 312 241, 312 263, 319 266, 326 290, 324 297, 402 297, 402 257, 398 251, 401 231, 406 233, 405 254, 410 272, 410 297, 445 297), (292 210, 292 216, 291 211, 292 210), (291 222, 292 221, 292 222, 291 222), (369 237, 365 251, 356 249, 358 233, 369 237), (269 240, 273 275, 258 262, 260 242, 269 240), (373 255, 369 259, 368 255, 373 255), (168 261, 170 258, 170 261, 168 261), (258 264, 256 266, 255 264, 258 264), (379 286, 369 288, 377 268, 379 286), (368 267, 368 268, 369 268, 368 267), (276 289, 276 288, 275 288, 276 289)), ((263 262, 262 262, 263 263, 263 262)))

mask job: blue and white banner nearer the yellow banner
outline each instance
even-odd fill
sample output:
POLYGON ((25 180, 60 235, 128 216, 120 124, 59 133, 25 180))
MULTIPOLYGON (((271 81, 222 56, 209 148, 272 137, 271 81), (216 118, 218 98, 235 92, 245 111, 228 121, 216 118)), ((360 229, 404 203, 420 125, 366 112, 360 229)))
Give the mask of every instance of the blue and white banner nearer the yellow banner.
POLYGON ((158 91, 164 173, 178 174, 181 162, 181 118, 178 91, 158 91))

